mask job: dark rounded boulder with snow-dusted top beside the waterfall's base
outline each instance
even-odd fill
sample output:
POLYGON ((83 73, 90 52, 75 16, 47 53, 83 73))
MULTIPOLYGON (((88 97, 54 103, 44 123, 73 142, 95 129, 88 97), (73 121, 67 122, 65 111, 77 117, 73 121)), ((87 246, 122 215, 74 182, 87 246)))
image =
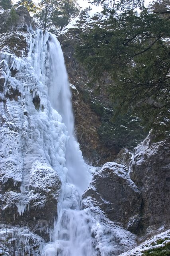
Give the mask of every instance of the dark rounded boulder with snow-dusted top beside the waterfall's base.
POLYGON ((88 190, 82 196, 82 207, 88 201, 99 206, 107 218, 119 222, 129 231, 139 230, 142 209, 141 192, 130 179, 125 166, 108 162, 94 174, 88 190))

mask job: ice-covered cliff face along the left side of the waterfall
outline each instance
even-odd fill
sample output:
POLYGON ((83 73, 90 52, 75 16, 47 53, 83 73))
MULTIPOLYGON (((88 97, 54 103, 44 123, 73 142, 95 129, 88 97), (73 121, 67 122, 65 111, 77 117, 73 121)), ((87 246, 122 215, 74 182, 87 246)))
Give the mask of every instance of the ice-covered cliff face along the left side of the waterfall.
POLYGON ((55 158, 62 158, 66 135, 57 126, 61 116, 54 118, 51 107, 43 109, 47 90, 27 50, 37 37, 29 33, 31 18, 26 8, 15 10, 17 22, 0 38, 1 243, 8 239, 10 253, 35 255, 53 232, 61 189, 56 168, 62 166, 55 158))

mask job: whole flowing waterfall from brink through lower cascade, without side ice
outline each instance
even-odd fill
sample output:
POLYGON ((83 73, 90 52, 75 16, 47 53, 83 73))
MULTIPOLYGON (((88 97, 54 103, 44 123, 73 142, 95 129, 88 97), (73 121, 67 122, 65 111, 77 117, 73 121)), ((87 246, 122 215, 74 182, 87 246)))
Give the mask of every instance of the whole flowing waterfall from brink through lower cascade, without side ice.
POLYGON ((93 218, 90 211, 80 210, 82 192, 88 187, 91 175, 88 172, 78 143, 74 138, 74 118, 71 93, 63 52, 57 38, 49 32, 37 31, 30 41, 28 60, 37 79, 47 88, 49 102, 66 126, 68 137, 65 145, 63 173, 59 173, 62 188, 57 206, 58 216, 54 224, 53 241, 43 248, 44 256, 92 256, 93 218))

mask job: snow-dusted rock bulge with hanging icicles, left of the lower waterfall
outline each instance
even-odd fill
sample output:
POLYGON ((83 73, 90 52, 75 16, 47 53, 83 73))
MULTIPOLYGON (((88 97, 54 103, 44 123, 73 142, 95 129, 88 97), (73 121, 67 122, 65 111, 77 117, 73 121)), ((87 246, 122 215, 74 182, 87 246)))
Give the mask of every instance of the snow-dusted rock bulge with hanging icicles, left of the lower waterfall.
MULTIPOLYGON (((3 126, 5 124, 6 122, 3 126)), ((1 223, 27 226, 35 234, 49 240, 49 230, 53 230, 54 218, 57 216, 61 181, 47 160, 38 155, 33 159, 24 152, 22 142, 23 138, 17 131, 2 128, 1 223), (22 154, 25 154, 25 157, 22 154), (30 165, 30 170, 26 165, 30 165), (29 181, 25 184, 27 178, 29 181)))

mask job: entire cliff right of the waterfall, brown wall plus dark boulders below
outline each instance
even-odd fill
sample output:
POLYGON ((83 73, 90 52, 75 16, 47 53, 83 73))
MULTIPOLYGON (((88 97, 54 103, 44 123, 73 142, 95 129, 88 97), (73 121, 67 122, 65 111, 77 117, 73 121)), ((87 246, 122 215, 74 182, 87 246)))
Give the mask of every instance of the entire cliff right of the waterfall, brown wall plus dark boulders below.
MULTIPOLYGON (((160 2, 156 2, 152 8, 160 8, 160 2)), ((74 46, 81 41, 80 32, 86 32, 94 24, 102 26, 102 19, 100 15, 92 17, 84 12, 59 35, 70 82, 77 89, 73 91, 72 100, 76 132, 85 159, 94 164, 96 161, 102 164, 110 160, 118 163, 109 162, 100 172, 94 174, 88 190, 82 197, 82 206, 99 207, 110 220, 123 224, 127 230, 147 234, 149 229, 154 230, 162 225, 164 229, 169 227, 170 145, 167 137, 164 136, 162 141, 155 142, 154 136, 150 134, 135 148, 133 156, 125 149, 116 156, 116 150, 110 150, 101 144, 97 132, 101 125, 100 117, 92 111, 86 100, 89 93, 95 99, 94 91, 89 86, 90 79, 86 71, 74 58, 74 46), (129 173, 126 168, 129 168, 129 173), (133 190, 130 184, 134 184, 137 190, 133 190)), ((97 97, 101 102, 109 102, 105 88, 97 97)))

